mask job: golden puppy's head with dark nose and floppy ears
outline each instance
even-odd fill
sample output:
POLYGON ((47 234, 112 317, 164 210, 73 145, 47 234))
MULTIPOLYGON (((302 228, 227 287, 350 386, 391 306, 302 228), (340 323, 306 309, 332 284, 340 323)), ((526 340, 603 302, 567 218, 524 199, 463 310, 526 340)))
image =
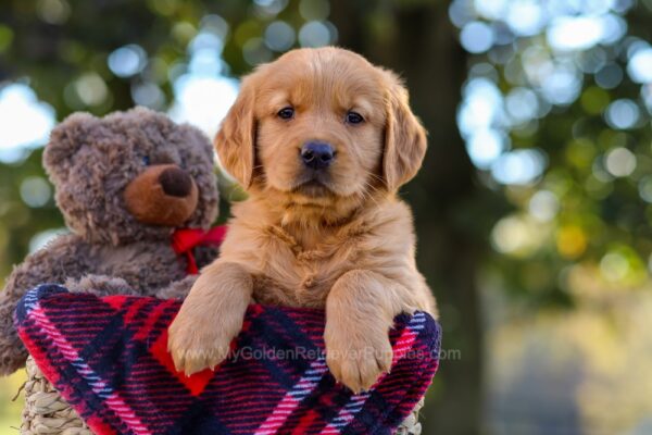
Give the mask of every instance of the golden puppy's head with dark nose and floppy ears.
POLYGON ((394 74, 322 48, 290 51, 247 76, 215 145, 252 194, 350 211, 416 174, 426 134, 394 74))

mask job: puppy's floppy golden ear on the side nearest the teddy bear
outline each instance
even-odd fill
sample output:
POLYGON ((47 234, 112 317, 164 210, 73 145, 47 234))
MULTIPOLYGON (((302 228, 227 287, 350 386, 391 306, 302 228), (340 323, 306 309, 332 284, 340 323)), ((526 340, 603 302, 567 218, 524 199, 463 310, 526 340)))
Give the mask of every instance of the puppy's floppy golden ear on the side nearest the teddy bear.
POLYGON ((244 188, 251 186, 255 159, 254 97, 252 77, 244 77, 240 94, 215 136, 220 162, 244 188))

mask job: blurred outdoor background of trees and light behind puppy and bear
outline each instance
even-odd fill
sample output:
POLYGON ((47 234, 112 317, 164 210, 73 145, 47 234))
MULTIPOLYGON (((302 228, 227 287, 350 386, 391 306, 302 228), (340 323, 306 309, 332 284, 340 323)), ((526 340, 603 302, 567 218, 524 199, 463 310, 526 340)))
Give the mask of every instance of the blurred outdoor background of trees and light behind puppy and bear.
POLYGON ((212 136, 242 74, 338 45, 430 132, 402 191, 444 331, 424 433, 652 434, 650 41, 652 0, 2 0, 0 279, 64 231, 40 159, 67 114, 212 136))

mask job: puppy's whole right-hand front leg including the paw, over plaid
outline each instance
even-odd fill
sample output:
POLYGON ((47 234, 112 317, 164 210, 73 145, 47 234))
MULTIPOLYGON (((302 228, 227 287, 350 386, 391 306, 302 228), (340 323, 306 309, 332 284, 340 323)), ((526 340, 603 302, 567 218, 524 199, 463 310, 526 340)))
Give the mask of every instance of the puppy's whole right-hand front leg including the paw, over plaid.
POLYGON ((393 318, 416 304, 398 283, 372 271, 350 271, 326 299, 326 362, 335 378, 354 393, 368 389, 390 369, 393 318))

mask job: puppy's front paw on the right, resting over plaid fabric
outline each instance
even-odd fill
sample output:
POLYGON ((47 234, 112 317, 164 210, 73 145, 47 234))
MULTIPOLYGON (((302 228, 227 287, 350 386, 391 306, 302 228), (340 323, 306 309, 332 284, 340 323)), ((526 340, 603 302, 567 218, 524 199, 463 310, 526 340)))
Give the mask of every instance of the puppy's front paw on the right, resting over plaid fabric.
POLYGON ((391 366, 393 351, 387 333, 347 333, 326 325, 326 363, 336 381, 353 393, 368 390, 391 366))

